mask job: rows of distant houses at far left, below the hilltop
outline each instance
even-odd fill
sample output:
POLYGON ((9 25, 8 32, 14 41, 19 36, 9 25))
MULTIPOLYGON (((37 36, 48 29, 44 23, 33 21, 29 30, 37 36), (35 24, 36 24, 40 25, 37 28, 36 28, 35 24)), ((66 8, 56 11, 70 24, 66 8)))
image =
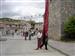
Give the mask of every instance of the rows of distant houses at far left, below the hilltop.
MULTIPOLYGON (((13 20, 12 20, 13 21, 13 20)), ((31 24, 26 21, 2 21, 0 20, 0 32, 2 32, 2 35, 6 35, 6 32, 9 31, 11 33, 11 30, 15 32, 17 31, 28 31, 31 28, 31 24)))

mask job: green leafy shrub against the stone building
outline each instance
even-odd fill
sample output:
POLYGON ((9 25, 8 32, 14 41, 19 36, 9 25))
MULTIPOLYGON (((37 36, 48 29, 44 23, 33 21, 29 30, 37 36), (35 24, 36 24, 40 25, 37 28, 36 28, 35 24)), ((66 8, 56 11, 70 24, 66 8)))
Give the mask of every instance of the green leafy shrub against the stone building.
POLYGON ((75 39, 75 16, 71 16, 65 21, 64 32, 66 38, 75 39))

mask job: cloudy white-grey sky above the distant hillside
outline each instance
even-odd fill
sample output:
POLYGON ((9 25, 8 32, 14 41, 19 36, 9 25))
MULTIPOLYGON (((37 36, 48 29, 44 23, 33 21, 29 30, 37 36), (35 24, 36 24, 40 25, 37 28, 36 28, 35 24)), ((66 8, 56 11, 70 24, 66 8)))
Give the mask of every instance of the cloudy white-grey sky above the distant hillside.
POLYGON ((45 0, 0 0, 0 17, 13 19, 31 19, 42 22, 45 11, 45 0))

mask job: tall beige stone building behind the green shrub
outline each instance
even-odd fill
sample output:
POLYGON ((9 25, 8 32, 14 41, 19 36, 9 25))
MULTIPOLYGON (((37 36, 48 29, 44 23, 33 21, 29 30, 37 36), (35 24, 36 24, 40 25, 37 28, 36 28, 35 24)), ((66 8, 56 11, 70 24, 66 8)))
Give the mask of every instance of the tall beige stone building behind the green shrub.
POLYGON ((60 40, 64 35, 64 21, 75 16, 75 0, 49 0, 49 37, 60 40))

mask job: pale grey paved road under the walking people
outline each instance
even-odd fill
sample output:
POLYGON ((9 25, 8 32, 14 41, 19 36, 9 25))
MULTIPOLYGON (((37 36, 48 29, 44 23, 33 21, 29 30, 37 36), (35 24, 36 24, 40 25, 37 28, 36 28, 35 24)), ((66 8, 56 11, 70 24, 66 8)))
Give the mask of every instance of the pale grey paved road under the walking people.
POLYGON ((35 37, 31 41, 25 41, 22 36, 10 37, 0 42, 0 56, 65 56, 50 47, 49 50, 34 50, 36 43, 35 37))

